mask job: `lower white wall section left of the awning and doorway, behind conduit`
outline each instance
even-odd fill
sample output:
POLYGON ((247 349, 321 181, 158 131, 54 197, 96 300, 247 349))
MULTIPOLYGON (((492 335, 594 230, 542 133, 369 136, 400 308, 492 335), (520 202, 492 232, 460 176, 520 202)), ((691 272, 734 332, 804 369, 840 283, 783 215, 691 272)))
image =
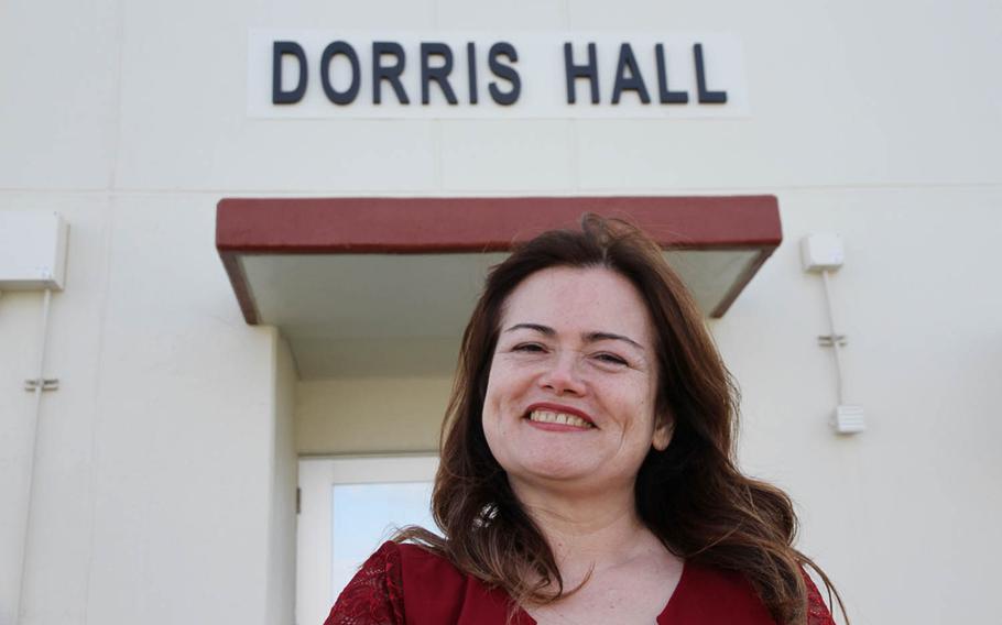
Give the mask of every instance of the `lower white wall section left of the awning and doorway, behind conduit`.
MULTIPOLYGON (((244 325, 233 305, 213 199, 0 194, 9 208, 70 222, 47 357, 61 387, 43 399, 22 623, 263 623, 277 336, 244 325)), ((4 553, 21 540, 28 501, 21 384, 34 375, 40 304, 0 298, 4 553)), ((0 604, 13 610, 18 558, 0 570, 0 604)))

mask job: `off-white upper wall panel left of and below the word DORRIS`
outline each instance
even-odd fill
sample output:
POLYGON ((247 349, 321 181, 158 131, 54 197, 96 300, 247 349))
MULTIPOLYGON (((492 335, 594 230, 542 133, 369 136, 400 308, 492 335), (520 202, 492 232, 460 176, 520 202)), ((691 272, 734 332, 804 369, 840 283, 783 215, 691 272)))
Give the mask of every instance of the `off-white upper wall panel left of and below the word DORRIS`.
POLYGON ((253 21, 241 2, 127 6, 121 187, 258 193, 432 187, 429 122, 249 120, 247 34, 253 21))

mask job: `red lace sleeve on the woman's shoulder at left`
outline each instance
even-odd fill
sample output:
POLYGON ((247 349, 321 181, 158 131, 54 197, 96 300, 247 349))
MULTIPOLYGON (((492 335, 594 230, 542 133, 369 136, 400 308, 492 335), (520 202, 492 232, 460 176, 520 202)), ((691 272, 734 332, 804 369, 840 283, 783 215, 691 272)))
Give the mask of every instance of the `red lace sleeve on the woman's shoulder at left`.
POLYGON ((403 625, 400 548, 384 542, 348 582, 324 625, 403 625))

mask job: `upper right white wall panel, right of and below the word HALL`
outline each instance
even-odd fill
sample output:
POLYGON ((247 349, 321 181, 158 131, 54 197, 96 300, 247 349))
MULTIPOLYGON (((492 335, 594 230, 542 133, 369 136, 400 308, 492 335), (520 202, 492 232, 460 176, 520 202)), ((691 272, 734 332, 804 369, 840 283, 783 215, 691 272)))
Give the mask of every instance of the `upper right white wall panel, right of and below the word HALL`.
MULTIPOLYGON (((926 10, 902 28, 897 3, 715 9, 709 23, 744 43, 751 119, 581 122, 582 188, 998 182, 1002 85, 984 77, 1000 9, 926 10)), ((639 2, 576 3, 570 14, 582 29, 700 22, 698 9, 639 2), (658 17, 669 10, 677 19, 658 17)))

